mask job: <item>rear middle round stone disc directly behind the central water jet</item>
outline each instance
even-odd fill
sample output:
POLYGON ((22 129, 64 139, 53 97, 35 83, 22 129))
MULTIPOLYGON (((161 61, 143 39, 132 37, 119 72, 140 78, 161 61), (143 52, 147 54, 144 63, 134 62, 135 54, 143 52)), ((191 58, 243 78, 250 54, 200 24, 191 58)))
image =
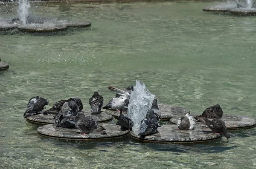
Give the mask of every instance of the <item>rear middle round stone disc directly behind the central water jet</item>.
MULTIPOLYGON (((159 109, 161 110, 161 118, 162 121, 170 120, 170 118, 175 116, 181 116, 185 115, 186 113, 189 113, 189 110, 185 107, 180 106, 169 106, 165 104, 158 104, 159 109)), ((115 110, 106 110, 106 113, 109 113, 113 116, 118 117, 120 112, 115 110)), ((123 114, 126 114, 127 112, 122 112, 123 114)))

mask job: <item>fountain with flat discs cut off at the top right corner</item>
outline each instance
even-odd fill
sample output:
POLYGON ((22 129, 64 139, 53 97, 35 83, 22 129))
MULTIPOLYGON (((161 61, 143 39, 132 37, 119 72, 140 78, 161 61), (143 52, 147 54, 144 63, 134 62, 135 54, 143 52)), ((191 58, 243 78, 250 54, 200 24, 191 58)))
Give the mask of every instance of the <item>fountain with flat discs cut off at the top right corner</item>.
POLYGON ((255 15, 256 3, 253 3, 252 0, 246 0, 243 2, 236 0, 236 2, 223 3, 217 6, 203 8, 203 11, 230 12, 231 14, 239 15, 255 15))

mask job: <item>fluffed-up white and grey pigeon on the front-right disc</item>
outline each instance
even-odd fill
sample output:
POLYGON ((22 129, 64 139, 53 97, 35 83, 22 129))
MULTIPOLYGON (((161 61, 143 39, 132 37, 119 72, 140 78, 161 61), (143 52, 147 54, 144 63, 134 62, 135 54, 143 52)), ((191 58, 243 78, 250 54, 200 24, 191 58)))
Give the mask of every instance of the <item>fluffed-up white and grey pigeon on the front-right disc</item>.
POLYGON ((177 123, 179 130, 194 130, 195 129, 195 121, 193 120, 192 115, 186 113, 181 118, 179 118, 177 123))

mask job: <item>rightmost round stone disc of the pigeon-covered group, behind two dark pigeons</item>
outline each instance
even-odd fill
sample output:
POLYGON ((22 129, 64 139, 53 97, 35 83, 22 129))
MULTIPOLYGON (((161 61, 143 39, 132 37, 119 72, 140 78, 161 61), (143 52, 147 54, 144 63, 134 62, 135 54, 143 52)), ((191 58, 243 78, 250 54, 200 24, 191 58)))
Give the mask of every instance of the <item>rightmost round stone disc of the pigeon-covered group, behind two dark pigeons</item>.
MULTIPOLYGON (((192 115, 193 118, 196 115, 192 115)), ((173 117, 170 119, 170 122, 172 124, 177 124, 177 121, 180 117, 173 117)), ((195 119, 195 118, 194 118, 195 119)), ((239 130, 244 128, 253 128, 256 126, 256 119, 251 117, 244 117, 241 115, 230 115, 230 114, 224 114, 221 118, 226 124, 226 127, 228 130, 239 130)), ((197 124, 202 124, 201 122, 196 122, 197 124)), ((203 124, 204 125, 204 124, 203 124)), ((207 126, 207 125, 205 125, 207 126)))

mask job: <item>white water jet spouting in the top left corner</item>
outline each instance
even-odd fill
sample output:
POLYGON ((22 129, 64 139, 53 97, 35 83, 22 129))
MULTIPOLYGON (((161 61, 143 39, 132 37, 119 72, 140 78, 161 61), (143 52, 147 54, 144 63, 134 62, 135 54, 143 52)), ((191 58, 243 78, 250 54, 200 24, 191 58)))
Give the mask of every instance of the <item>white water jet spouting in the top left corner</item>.
POLYGON ((29 16, 30 0, 19 0, 18 16, 23 24, 26 24, 29 16))

